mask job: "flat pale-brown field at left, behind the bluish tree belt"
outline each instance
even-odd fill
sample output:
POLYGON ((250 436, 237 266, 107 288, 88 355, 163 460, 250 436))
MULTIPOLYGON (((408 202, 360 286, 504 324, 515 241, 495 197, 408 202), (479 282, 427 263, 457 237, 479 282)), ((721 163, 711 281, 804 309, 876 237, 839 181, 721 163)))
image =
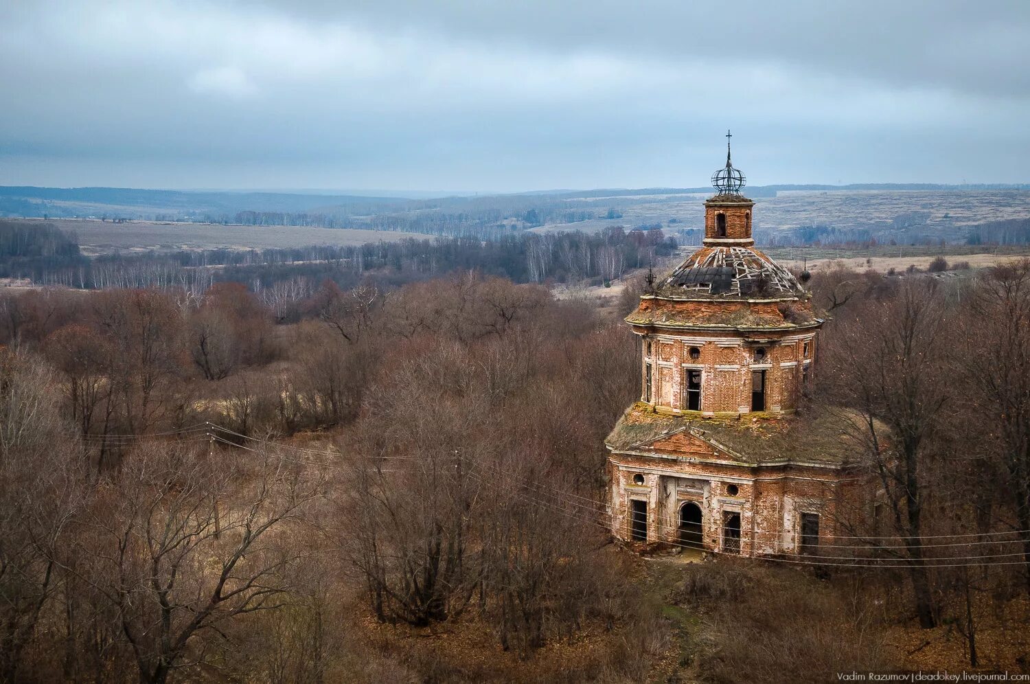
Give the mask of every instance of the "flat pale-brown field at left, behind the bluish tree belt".
POLYGON ((78 236, 88 255, 124 251, 179 249, 267 249, 309 245, 356 245, 404 238, 427 239, 418 233, 368 231, 306 226, 222 226, 130 220, 124 224, 85 218, 49 219, 0 218, 0 223, 53 224, 78 236))

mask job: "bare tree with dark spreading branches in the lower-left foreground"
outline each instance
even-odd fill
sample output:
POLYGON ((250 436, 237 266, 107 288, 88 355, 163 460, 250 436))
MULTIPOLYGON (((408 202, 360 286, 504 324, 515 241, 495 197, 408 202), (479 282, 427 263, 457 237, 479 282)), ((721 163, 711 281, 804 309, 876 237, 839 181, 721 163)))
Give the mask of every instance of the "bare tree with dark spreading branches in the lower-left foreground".
POLYGON ((271 453, 205 452, 158 443, 130 452, 65 560, 112 613, 141 683, 204 662, 207 635, 281 605, 304 555, 284 542, 317 482, 271 453))

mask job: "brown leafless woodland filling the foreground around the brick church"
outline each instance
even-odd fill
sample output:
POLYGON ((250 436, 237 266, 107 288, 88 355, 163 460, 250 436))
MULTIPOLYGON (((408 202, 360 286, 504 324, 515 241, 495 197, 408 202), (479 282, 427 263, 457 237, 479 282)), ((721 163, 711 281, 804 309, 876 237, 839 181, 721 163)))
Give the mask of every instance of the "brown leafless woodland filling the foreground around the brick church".
POLYGON ((812 567, 675 572, 605 531, 639 387, 592 300, 468 271, 282 309, 4 295, 0 679, 825 681, 920 632, 1025 670, 990 644, 1030 618, 1030 264, 812 285, 812 406, 867 418, 882 505, 812 567))

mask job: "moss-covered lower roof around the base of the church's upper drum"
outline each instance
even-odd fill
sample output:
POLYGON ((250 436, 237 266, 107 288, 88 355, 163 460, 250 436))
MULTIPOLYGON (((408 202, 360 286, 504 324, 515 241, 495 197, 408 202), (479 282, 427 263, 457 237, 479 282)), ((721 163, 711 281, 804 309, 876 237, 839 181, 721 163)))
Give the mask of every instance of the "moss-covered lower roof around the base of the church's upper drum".
POLYGON ((614 451, 647 451, 651 443, 685 432, 741 463, 844 465, 860 457, 862 431, 857 413, 835 407, 777 418, 724 419, 663 415, 638 403, 619 419, 606 444, 614 451))

